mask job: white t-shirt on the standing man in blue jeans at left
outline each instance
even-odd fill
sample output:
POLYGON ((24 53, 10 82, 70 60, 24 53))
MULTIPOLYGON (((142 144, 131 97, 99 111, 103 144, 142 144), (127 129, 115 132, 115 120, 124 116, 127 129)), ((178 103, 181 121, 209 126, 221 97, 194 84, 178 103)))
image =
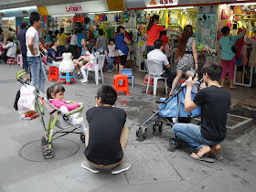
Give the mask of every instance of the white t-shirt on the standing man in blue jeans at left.
POLYGON ((27 57, 37 57, 37 56, 40 56, 40 53, 39 53, 39 37, 38 37, 38 32, 37 32, 37 29, 34 28, 34 27, 29 27, 27 29, 27 33, 26 33, 26 46, 27 46, 27 57), (33 37, 33 48, 37 48, 38 49, 38 53, 37 55, 32 55, 30 49, 28 48, 27 46, 27 42, 28 42, 28 37, 33 37))

